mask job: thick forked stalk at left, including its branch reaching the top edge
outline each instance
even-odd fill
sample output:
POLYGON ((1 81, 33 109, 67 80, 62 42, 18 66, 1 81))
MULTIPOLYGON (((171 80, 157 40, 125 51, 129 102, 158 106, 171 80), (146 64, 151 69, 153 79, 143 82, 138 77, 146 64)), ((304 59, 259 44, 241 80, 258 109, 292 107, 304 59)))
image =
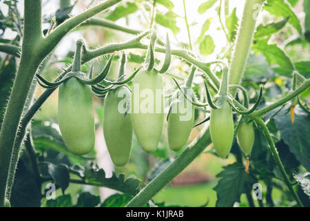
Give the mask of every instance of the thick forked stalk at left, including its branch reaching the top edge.
POLYGON ((99 3, 85 12, 68 19, 48 37, 43 38, 41 28, 41 0, 24 1, 23 45, 21 62, 13 84, 10 100, 0 131, 0 206, 4 206, 14 140, 28 97, 34 74, 41 61, 54 50, 59 41, 80 23, 113 6, 121 0, 99 3))

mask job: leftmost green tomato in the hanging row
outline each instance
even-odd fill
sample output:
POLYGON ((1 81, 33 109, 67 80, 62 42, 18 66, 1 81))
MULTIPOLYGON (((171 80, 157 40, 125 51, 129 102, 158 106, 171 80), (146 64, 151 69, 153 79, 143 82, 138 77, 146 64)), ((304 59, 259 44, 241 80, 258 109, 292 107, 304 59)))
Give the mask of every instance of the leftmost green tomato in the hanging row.
POLYGON ((90 153, 94 148, 94 111, 92 89, 76 77, 59 86, 59 128, 65 145, 75 155, 90 153))

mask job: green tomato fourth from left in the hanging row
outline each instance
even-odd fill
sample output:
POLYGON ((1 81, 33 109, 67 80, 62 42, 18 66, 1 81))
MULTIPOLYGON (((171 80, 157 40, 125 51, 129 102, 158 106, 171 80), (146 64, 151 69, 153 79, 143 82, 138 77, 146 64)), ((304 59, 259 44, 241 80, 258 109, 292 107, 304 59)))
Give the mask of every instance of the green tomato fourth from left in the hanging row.
POLYGON ((168 144, 172 151, 179 151, 186 144, 194 116, 194 106, 185 97, 172 106, 167 126, 168 144))

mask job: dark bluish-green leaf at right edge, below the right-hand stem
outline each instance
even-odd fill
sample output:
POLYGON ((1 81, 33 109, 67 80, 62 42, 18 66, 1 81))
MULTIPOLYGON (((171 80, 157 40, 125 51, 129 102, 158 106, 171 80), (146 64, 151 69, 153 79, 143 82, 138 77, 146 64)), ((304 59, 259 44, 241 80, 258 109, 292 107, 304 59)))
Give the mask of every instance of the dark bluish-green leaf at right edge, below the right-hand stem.
POLYGON ((297 160, 310 171, 310 116, 304 113, 299 106, 295 108, 295 120, 291 124, 287 108, 291 104, 287 104, 276 116, 276 125, 281 133, 281 138, 285 144, 289 146, 289 150, 297 160))

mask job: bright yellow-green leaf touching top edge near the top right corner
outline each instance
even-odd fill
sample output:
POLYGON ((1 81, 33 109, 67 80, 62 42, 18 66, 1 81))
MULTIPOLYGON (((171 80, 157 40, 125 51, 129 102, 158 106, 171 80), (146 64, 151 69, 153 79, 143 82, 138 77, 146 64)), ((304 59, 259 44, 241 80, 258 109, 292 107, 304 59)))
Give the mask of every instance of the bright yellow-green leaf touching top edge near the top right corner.
POLYGON ((268 0, 264 9, 276 17, 289 17, 289 23, 302 35, 300 21, 287 0, 268 0))

